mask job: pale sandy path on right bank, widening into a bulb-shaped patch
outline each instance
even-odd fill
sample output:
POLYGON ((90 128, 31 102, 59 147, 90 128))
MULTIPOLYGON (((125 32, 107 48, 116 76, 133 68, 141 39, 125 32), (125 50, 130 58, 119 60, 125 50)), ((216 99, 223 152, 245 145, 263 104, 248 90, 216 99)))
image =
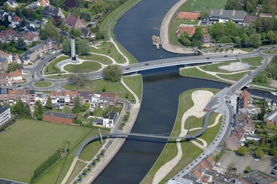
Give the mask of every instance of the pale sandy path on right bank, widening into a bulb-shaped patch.
MULTIPOLYGON (((198 90, 194 91, 191 94, 191 99, 194 103, 194 105, 189 108, 182 116, 182 123, 181 123, 181 133, 179 136, 185 136, 187 133, 187 130, 185 130, 185 120, 189 116, 195 116, 197 118, 200 118, 206 114, 206 112, 203 111, 205 106, 209 103, 210 99, 214 96, 214 94, 210 91, 206 90, 198 90)), ((177 156, 167 163, 165 163, 163 166, 161 166, 156 174, 154 175, 154 179, 152 184, 158 184, 179 162, 179 160, 182 158, 183 152, 182 147, 180 144, 181 139, 177 139, 177 148, 178 153, 177 156)))

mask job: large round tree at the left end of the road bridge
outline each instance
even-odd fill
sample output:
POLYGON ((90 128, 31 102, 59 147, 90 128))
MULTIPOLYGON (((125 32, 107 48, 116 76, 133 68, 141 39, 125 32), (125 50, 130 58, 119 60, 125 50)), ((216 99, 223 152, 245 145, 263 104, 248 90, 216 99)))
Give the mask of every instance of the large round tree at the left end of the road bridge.
POLYGON ((122 69, 116 64, 112 64, 104 68, 103 75, 111 82, 119 82, 123 76, 122 69))

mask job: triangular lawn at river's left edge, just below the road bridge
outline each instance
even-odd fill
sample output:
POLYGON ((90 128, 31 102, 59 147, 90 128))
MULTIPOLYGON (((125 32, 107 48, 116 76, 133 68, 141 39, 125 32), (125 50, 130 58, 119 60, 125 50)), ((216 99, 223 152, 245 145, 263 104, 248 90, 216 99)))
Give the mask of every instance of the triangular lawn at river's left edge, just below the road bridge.
POLYGON ((124 83, 132 89, 141 101, 142 97, 142 77, 141 75, 123 77, 124 83))

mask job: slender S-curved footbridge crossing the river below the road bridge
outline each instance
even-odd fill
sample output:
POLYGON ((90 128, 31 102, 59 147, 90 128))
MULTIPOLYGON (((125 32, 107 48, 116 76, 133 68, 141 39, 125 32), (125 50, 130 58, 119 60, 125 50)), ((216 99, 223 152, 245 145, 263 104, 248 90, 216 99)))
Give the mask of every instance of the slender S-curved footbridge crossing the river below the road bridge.
MULTIPOLYGON (((146 134, 146 133, 117 133, 117 132, 112 132, 112 133, 106 133, 102 135, 102 138, 111 138, 111 137, 121 137, 121 136, 137 136, 137 137, 148 137, 148 138, 158 138, 158 139, 193 139, 196 138, 200 135, 202 135, 208 128, 209 125, 209 119, 211 114, 216 110, 216 108, 212 108, 209 112, 207 112, 207 114, 205 115, 205 119, 203 122, 203 126, 201 131, 195 133, 194 135, 186 135, 186 136, 182 136, 182 137, 171 137, 171 136, 163 136, 161 134, 146 134)), ((189 131, 188 131, 189 132, 189 131)), ((187 132, 187 133, 188 133, 187 132)), ((100 135, 94 136, 90 139, 88 139, 86 142, 84 142, 79 149, 77 150, 76 154, 75 154, 75 158, 79 158, 82 151, 84 150, 84 148, 90 144, 93 141, 99 140, 101 139, 100 135)))

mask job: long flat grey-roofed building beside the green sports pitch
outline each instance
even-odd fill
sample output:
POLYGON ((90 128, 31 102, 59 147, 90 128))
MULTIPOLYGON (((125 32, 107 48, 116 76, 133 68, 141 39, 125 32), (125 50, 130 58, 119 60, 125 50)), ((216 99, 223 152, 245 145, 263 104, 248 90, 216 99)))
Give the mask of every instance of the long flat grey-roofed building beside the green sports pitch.
POLYGON ((245 11, 211 9, 205 22, 206 24, 214 24, 215 22, 225 23, 230 20, 235 24, 243 25, 245 17, 245 11))

